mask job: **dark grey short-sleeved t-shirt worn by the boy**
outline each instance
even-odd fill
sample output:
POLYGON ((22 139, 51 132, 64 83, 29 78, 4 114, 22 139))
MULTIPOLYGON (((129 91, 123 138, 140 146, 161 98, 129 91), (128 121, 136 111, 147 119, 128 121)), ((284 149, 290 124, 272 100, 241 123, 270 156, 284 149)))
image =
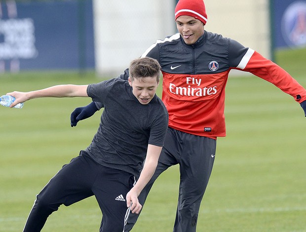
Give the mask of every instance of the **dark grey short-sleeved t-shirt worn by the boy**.
POLYGON ((85 150, 101 165, 138 176, 148 144, 163 146, 168 112, 155 95, 142 105, 128 81, 113 78, 87 87, 87 94, 104 105, 101 123, 85 150))

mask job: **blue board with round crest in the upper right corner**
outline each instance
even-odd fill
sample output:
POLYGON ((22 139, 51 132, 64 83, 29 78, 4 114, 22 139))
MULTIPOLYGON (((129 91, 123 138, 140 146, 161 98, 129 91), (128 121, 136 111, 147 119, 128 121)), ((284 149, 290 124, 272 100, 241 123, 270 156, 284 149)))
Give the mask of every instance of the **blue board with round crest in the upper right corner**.
POLYGON ((274 48, 306 47, 306 0, 271 0, 274 48))

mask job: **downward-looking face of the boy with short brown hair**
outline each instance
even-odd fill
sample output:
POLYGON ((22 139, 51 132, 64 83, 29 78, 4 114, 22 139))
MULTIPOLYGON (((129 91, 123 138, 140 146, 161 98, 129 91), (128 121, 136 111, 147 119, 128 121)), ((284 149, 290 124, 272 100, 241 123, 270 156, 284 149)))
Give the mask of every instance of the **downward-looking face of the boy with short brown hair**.
POLYGON ((133 94, 138 101, 147 105, 153 99, 159 81, 156 77, 141 77, 141 78, 128 78, 130 86, 133 88, 133 94))

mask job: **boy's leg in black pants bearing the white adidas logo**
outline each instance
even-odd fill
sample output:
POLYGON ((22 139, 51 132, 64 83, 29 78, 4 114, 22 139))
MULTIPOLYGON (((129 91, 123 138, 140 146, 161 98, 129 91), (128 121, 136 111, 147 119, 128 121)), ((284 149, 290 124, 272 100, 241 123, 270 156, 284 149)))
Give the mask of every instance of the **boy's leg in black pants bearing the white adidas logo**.
POLYGON ((134 184, 133 174, 102 166, 92 188, 103 214, 100 232, 123 232, 130 212, 126 194, 134 184))

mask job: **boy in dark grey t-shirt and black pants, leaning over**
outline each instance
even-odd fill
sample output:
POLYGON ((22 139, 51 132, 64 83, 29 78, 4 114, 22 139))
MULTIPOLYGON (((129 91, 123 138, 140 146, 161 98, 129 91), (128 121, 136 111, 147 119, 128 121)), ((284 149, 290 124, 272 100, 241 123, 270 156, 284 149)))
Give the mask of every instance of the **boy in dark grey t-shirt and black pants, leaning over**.
POLYGON ((155 171, 168 126, 167 110, 155 94, 160 69, 156 60, 139 58, 130 64, 128 81, 114 78, 7 93, 16 98, 10 107, 39 97, 89 96, 104 104, 92 143, 37 195, 24 232, 39 232, 61 204, 69 206, 92 195, 103 213, 100 232, 122 232, 129 212, 140 212, 138 195, 155 171))

